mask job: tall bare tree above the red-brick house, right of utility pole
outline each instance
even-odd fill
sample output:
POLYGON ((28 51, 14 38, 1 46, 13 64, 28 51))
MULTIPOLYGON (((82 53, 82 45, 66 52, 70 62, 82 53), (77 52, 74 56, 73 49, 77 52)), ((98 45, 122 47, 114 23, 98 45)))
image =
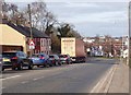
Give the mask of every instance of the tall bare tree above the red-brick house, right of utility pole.
MULTIPOLYGON (((28 9, 24 10, 25 17, 28 20, 28 9)), ((49 31, 50 26, 56 23, 55 15, 47 10, 46 3, 41 0, 31 3, 32 25, 41 32, 49 31)))

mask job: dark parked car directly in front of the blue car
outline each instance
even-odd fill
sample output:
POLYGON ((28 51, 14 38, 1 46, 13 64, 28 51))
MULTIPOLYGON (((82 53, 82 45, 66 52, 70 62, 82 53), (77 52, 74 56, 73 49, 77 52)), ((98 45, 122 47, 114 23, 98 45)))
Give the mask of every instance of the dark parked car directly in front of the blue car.
POLYGON ((61 66, 61 62, 60 62, 60 58, 58 55, 50 55, 49 56, 49 61, 53 64, 53 66, 61 66))

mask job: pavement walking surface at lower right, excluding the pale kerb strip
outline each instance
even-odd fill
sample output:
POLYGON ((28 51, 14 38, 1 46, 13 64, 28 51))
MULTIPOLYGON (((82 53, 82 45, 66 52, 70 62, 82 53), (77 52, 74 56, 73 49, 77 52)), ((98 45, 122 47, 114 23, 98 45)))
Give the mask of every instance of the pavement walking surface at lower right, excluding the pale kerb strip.
POLYGON ((127 64, 117 64, 108 93, 129 93, 129 67, 127 64))

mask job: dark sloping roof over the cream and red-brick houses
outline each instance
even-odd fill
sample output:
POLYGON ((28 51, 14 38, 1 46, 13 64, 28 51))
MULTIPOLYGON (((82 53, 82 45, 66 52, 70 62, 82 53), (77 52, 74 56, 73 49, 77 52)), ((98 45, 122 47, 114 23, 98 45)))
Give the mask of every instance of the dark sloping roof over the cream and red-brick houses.
MULTIPOLYGON (((27 27, 27 26, 15 25, 7 20, 2 20, 2 24, 7 24, 7 25, 11 26, 12 28, 16 29, 21 34, 25 35, 26 37, 31 37, 31 31, 29 31, 29 27, 27 27)), ((33 32, 33 37, 35 37, 35 38, 49 38, 48 35, 38 31, 35 27, 32 27, 32 32, 33 32)))

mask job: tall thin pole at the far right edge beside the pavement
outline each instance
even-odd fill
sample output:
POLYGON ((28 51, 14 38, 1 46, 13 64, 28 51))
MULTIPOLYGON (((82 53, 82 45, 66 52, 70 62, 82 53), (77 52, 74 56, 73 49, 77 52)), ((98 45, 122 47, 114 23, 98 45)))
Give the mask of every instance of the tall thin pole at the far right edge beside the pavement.
POLYGON ((129 2, 129 36, 128 36, 128 64, 131 68, 131 1, 129 2))

